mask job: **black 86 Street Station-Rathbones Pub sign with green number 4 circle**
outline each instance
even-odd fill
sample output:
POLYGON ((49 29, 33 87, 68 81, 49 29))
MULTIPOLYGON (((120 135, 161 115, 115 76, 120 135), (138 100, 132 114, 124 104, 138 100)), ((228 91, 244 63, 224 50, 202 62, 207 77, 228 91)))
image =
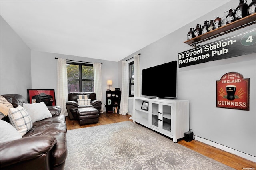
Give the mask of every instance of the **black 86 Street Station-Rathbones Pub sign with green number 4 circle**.
POLYGON ((223 38, 178 54, 179 68, 256 53, 256 29, 223 38))

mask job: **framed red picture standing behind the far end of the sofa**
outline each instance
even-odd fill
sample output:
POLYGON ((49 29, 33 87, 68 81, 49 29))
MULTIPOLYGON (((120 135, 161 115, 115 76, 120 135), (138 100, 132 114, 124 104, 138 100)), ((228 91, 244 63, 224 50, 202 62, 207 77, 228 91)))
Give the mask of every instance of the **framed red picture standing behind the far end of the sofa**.
POLYGON ((46 106, 56 106, 54 89, 27 89, 28 103, 44 102, 46 106))

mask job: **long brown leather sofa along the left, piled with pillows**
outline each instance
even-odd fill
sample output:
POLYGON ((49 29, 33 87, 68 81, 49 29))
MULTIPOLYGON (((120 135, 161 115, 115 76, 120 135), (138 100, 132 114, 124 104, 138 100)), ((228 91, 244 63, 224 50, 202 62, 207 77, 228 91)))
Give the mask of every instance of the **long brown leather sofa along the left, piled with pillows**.
MULTIPOLYGON (((14 107, 28 103, 19 94, 4 96, 14 107)), ((63 170, 67 157, 66 121, 61 107, 48 106, 52 117, 36 121, 22 138, 2 142, 1 170, 63 170)), ((7 122, 8 117, 4 117, 7 122)))

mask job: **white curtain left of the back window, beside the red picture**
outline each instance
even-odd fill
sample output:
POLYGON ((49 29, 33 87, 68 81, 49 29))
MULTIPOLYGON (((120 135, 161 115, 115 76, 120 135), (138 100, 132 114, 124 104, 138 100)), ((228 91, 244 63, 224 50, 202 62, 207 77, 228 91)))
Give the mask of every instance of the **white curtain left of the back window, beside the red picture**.
POLYGON ((68 115, 66 101, 68 100, 68 77, 67 77, 67 60, 58 58, 57 61, 57 96, 56 104, 60 106, 61 113, 68 115))

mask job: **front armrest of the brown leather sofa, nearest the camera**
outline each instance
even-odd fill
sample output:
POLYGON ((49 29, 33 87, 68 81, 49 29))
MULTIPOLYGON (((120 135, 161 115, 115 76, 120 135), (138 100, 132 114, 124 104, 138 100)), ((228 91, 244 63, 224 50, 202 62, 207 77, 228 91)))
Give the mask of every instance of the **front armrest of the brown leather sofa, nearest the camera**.
POLYGON ((1 168, 48 154, 56 138, 48 135, 24 137, 1 143, 1 168))

